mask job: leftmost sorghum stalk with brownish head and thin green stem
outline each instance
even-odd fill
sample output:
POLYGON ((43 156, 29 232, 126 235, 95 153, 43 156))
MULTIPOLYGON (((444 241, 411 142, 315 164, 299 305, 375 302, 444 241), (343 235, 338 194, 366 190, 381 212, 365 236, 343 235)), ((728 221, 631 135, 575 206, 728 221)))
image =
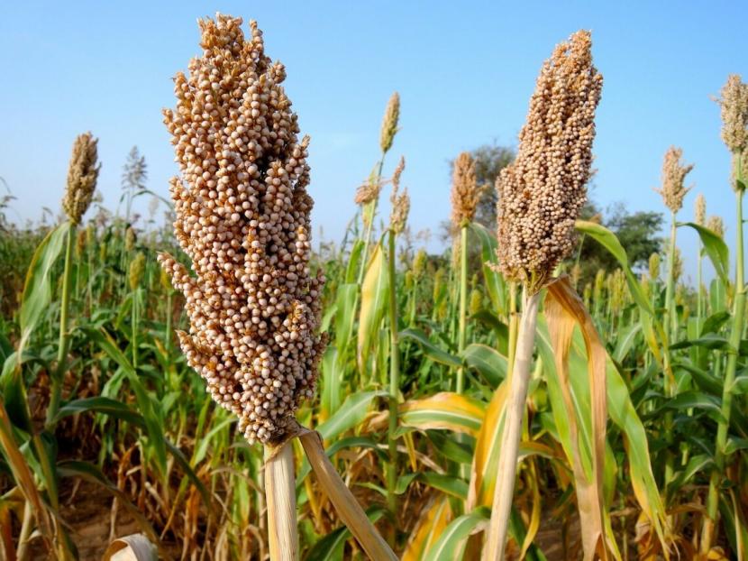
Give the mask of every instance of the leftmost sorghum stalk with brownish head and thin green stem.
POLYGON ((62 198, 62 207, 68 215, 69 229, 65 244, 65 266, 62 273, 62 295, 59 308, 57 369, 51 376, 50 406, 47 408, 48 423, 57 414, 62 397, 62 381, 65 377, 69 346, 68 312, 73 274, 73 243, 80 220, 86 214, 96 189, 96 179, 101 168, 101 165, 96 162, 97 143, 98 140, 91 133, 83 133, 76 138, 68 167, 65 195, 62 198))

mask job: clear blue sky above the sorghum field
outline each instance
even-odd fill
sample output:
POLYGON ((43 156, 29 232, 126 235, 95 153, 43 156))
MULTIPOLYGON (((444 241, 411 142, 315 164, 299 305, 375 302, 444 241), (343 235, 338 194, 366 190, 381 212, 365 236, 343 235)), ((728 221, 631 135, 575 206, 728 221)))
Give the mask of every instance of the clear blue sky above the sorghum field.
MULTIPOLYGON (((682 217, 703 192, 707 213, 724 216, 734 236, 729 157, 710 97, 728 73, 748 79, 745 2, 4 2, 0 177, 18 198, 12 217, 59 208, 70 145, 86 130, 100 138, 109 207, 133 144, 147 158, 149 187, 167 193, 176 166, 160 109, 174 103, 170 78, 198 53, 196 18, 216 11, 258 20, 269 56, 287 66, 287 93, 312 136, 315 235, 320 226, 325 238, 342 235, 397 90, 402 130, 388 169, 405 154, 411 225, 435 238, 449 216, 448 160, 481 143, 515 143, 541 63, 587 28, 605 77, 594 198, 660 210, 652 188, 662 154, 680 145, 696 164, 682 217)), ((688 254, 693 236, 680 239, 688 254)))

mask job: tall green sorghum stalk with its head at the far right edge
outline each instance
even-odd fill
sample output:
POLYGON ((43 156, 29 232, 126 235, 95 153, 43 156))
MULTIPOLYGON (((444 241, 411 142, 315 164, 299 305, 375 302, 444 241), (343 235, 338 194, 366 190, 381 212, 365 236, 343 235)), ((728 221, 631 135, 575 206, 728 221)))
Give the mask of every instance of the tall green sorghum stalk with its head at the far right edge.
MULTIPOLYGON (((733 189, 737 213, 735 233, 735 296, 733 301, 733 325, 730 331, 730 352, 727 356, 725 379, 722 386, 722 418, 717 426, 715 442, 715 467, 709 478, 707 495, 707 517, 701 535, 702 553, 707 553, 716 538, 716 520, 719 507, 719 483, 725 472, 725 446, 730 416, 733 408, 733 385, 737 370, 738 349, 740 348, 745 322, 745 264, 743 247, 743 194, 744 162, 748 151, 748 84, 737 75, 727 78, 719 100, 722 113, 722 139, 733 154, 733 189)), ((715 224, 716 228, 718 226, 715 224)))

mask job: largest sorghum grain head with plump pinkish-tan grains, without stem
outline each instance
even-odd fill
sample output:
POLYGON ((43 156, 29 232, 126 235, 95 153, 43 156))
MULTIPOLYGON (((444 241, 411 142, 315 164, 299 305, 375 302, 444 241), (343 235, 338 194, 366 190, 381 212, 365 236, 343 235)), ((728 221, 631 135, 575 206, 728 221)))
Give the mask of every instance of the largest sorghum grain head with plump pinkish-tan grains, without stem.
POLYGON ((257 24, 248 39, 241 24, 200 21, 203 54, 175 78, 177 108, 164 112, 181 169, 174 229, 196 276, 160 262, 187 299, 188 363, 250 442, 272 445, 314 395, 324 279, 309 271, 308 138, 297 139, 284 67, 257 24))

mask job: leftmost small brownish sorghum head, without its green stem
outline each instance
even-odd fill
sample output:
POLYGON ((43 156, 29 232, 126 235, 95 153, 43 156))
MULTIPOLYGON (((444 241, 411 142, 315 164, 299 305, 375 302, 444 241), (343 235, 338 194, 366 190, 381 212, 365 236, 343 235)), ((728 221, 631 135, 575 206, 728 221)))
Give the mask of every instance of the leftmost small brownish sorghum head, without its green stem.
POLYGON ((62 208, 74 225, 86 214, 96 189, 101 164, 97 164, 98 139, 91 133, 79 134, 73 143, 73 154, 68 167, 68 183, 62 198, 62 208))

